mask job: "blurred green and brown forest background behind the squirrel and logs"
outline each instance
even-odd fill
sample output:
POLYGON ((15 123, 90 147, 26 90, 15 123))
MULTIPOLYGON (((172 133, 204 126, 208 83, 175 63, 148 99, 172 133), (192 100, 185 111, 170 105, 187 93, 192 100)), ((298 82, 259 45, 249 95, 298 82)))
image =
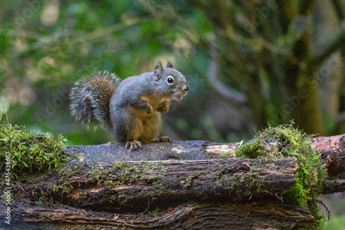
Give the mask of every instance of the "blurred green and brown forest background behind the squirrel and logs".
MULTIPOLYGON (((69 145, 112 142, 70 117, 77 79, 97 70, 121 78, 152 72, 159 60, 190 86, 164 115, 162 133, 173 140, 249 140, 291 119, 308 134, 345 133, 345 0, 0 6, 0 111, 31 131, 61 133, 69 145)), ((333 213, 344 215, 344 194, 336 195, 333 213)))

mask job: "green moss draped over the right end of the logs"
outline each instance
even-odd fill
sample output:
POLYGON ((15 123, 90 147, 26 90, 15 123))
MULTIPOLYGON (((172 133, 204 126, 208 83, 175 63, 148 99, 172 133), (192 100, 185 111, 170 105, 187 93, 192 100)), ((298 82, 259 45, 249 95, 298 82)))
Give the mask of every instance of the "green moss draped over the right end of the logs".
POLYGON ((322 191, 326 169, 319 153, 311 146, 311 137, 313 136, 294 128, 293 122, 275 128, 269 126, 259 132, 253 142, 237 148, 236 157, 296 157, 299 166, 295 175, 296 182, 284 194, 284 202, 308 207, 317 222, 316 229, 322 229, 324 216, 319 213, 316 198, 322 191), (276 141, 268 144, 265 140, 276 141))

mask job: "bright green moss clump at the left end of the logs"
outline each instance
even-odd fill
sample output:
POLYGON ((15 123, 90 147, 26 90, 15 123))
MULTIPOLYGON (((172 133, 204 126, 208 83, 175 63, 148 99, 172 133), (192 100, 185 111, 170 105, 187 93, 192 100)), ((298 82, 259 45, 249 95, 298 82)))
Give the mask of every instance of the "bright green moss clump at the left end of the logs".
MULTIPOLYGON (((25 126, 12 126, 1 120, 0 114, 0 161, 10 162, 12 173, 34 173, 59 166, 69 160, 63 152, 66 139, 57 140, 50 135, 30 133, 25 126)), ((5 164, 0 167, 5 169, 5 164)))

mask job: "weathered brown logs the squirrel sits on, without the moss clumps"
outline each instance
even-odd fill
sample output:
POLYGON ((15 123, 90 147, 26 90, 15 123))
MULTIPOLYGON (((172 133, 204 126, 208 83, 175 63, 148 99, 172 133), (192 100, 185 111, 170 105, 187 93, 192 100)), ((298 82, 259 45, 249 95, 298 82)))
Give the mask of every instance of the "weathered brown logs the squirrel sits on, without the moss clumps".
MULTIPOLYGON (((344 143, 345 135, 313 140, 328 168, 324 193, 345 191, 345 180, 339 178, 345 171, 344 143)), ((239 144, 175 141, 148 144, 137 152, 117 144, 68 147, 78 160, 13 184, 11 227, 313 227, 308 209, 282 202, 295 183, 295 158, 231 158, 239 144), (227 158, 221 159, 224 153, 227 158)))

